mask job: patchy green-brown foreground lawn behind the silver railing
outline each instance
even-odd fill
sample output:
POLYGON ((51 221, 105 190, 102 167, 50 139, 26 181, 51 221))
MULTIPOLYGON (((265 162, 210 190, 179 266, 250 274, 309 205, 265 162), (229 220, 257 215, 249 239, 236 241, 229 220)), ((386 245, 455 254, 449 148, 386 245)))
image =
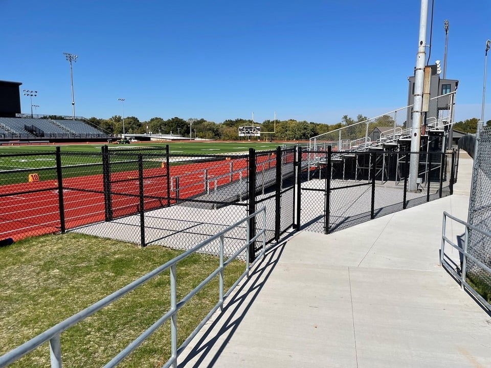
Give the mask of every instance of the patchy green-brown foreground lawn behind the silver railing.
MULTIPOLYGON (((0 355, 180 254, 180 251, 81 234, 48 235, 0 248, 0 355)), ((195 254, 178 263, 177 299, 218 266, 216 257, 195 254)), ((230 287, 244 269, 225 269, 230 287)), ((63 364, 101 366, 170 307, 169 272, 61 334, 63 364)), ((178 312, 182 343, 218 300, 215 278, 178 312)), ((164 324, 120 365, 157 367, 170 357, 170 327, 164 324)), ((49 366, 43 344, 12 367, 49 366)))

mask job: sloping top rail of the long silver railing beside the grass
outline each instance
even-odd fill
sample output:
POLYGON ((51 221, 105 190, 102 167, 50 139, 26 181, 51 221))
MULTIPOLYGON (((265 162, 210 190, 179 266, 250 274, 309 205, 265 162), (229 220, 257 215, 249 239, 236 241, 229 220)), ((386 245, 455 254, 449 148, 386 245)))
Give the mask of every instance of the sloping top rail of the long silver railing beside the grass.
POLYGON ((130 291, 136 289, 138 286, 146 283, 147 281, 153 279, 154 277, 158 276, 160 273, 165 271, 166 269, 170 268, 171 266, 175 265, 176 263, 182 261, 183 259, 187 258, 188 256, 192 255, 195 253, 197 250, 203 248, 205 245, 208 243, 211 243, 212 241, 220 238, 222 235, 232 231, 235 227, 241 225, 244 222, 247 222, 251 218, 254 218, 261 212, 265 213, 266 208, 263 206, 261 209, 257 210, 256 212, 250 214, 249 216, 243 218, 242 220, 237 221, 233 225, 230 225, 226 227, 224 230, 221 232, 213 235, 212 237, 200 242, 199 244, 195 245, 194 247, 188 249, 187 251, 183 252, 182 254, 178 255, 177 257, 174 257, 173 259, 167 261, 163 265, 155 268, 154 270, 146 273, 142 277, 138 278, 137 280, 129 283, 126 286, 123 286, 121 289, 107 295, 106 297, 102 298, 98 302, 92 304, 91 306, 88 306, 87 308, 81 310, 80 312, 72 315, 71 317, 68 317, 61 321, 60 323, 56 324, 55 326, 49 328, 46 331, 41 332, 37 336, 33 337, 32 339, 24 342, 23 344, 19 345, 17 348, 12 349, 8 353, 0 356, 0 367, 6 366, 10 363, 13 363, 20 357, 26 355, 27 353, 33 351, 37 347, 39 347, 41 344, 44 342, 49 341, 53 337, 59 335, 63 331, 69 329, 70 327, 74 326, 75 324, 79 323, 81 320, 93 315, 97 311, 101 310, 102 308, 106 307, 107 305, 115 302, 118 300, 120 297, 124 296, 125 294, 129 293, 130 291))

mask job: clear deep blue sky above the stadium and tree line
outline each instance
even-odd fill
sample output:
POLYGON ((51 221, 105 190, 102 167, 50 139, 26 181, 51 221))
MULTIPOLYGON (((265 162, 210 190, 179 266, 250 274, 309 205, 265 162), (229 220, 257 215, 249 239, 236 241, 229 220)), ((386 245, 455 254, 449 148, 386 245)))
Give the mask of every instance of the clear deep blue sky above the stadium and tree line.
MULTIPOLYGON (((431 0, 430 0, 431 4, 431 0)), ((0 0, 0 79, 36 89, 39 113, 147 120, 251 118, 333 124, 407 103, 419 1, 0 0)), ((435 1, 431 63, 459 79, 456 118, 479 117, 491 2, 435 1)), ((491 63, 491 62, 490 62, 491 63)), ((489 68, 491 69, 491 67, 489 68)), ((491 74, 491 73, 488 73, 491 74)), ((491 77, 488 78, 491 80, 491 77)), ((491 86, 491 82, 488 83, 491 86)), ((23 112, 30 102, 22 99, 23 112)), ((491 119, 491 88, 485 120, 491 119)))

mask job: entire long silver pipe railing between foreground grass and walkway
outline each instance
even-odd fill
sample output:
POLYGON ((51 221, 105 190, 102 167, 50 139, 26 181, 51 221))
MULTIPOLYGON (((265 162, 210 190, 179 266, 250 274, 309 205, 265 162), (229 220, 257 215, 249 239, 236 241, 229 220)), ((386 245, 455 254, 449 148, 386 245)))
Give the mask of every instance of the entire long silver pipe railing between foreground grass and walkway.
POLYGON ((41 332, 36 337, 30 339, 29 341, 19 345, 17 348, 11 350, 5 355, 0 356, 0 367, 5 367, 8 364, 15 362, 20 359, 27 353, 33 351, 37 347, 39 347, 44 342, 49 341, 50 346, 50 359, 51 359, 51 368, 61 368, 61 345, 60 345, 60 334, 79 323, 83 319, 93 315, 97 311, 102 308, 108 306, 109 304, 115 302, 120 297, 129 293, 132 290, 135 290, 138 286, 146 283, 147 281, 153 279, 157 275, 161 274, 163 271, 170 268, 170 310, 168 310, 162 317, 160 317, 157 321, 153 323, 147 330, 145 330, 140 336, 138 336, 135 340, 131 341, 118 355, 116 355, 113 359, 111 359, 108 363, 104 365, 104 368, 114 367, 118 365, 125 357, 127 357, 133 350, 138 348, 140 344, 145 341, 155 330, 157 330, 162 324, 164 324, 168 319, 171 319, 171 357, 169 360, 162 365, 162 367, 177 367, 177 357, 182 353, 182 351, 188 346, 194 336, 199 332, 199 330, 205 325, 205 323, 210 319, 210 317, 218 310, 218 308, 222 309, 224 306, 224 300, 230 293, 234 290, 234 288, 238 285, 238 283, 245 277, 249 276, 249 269, 254 266, 254 264, 260 260, 265 254, 266 248, 266 209, 263 206, 260 210, 254 212, 253 214, 243 218, 242 220, 234 223, 233 225, 227 227, 223 231, 218 234, 208 238, 207 240, 195 245, 191 249, 185 251, 183 254, 171 259, 170 261, 164 263, 162 266, 155 268, 153 271, 148 272, 143 275, 141 278, 133 281, 132 283, 122 287, 121 289, 115 291, 114 293, 107 295, 102 298, 100 301, 94 303, 93 305, 83 309, 82 311, 74 314, 73 316, 66 318, 61 321, 59 324, 53 326, 52 328, 41 332), (250 232, 250 219, 255 218, 259 214, 262 214, 262 228, 257 230, 257 234, 251 238, 250 232), (224 242, 225 242, 225 234, 232 231, 234 228, 239 225, 246 223, 247 226, 247 236, 245 239, 245 244, 238 249, 234 255, 232 255, 229 259, 224 260, 224 242), (249 263, 249 246, 254 243, 262 236, 262 251, 261 254, 254 260, 254 262, 249 263), (198 286, 196 286, 193 290, 191 290, 186 296, 182 298, 181 301, 176 301, 176 269, 175 266, 178 262, 184 260, 188 256, 194 254, 199 249, 203 248, 205 245, 218 240, 220 246, 220 254, 219 254, 219 266, 213 272, 211 272, 208 277, 203 280, 198 286), (235 283, 230 287, 230 289, 224 294, 224 269, 225 267, 236 259, 243 251, 246 252, 246 261, 245 261, 245 270, 239 276, 239 278, 235 281, 235 283), (218 302, 215 306, 210 310, 210 312, 206 315, 205 318, 198 324, 198 326, 191 332, 191 334, 186 338, 186 340, 181 344, 180 347, 177 347, 177 311, 180 310, 190 299, 193 297, 199 290, 201 290, 206 284, 208 284, 212 279, 216 276, 219 277, 218 284, 218 302))

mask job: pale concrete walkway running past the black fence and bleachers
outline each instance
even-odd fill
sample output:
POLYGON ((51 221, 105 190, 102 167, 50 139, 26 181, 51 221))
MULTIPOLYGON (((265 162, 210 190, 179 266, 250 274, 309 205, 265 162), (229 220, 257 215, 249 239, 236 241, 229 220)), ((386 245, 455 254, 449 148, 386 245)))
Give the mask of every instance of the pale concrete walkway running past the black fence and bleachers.
MULTIPOLYGON (((269 252, 181 354, 186 367, 491 367, 491 316, 438 264, 453 196, 269 252)), ((455 240, 461 226, 449 226, 455 240)), ((450 252, 449 248, 449 252, 450 252)), ((458 262, 457 251, 450 254, 458 262)))

